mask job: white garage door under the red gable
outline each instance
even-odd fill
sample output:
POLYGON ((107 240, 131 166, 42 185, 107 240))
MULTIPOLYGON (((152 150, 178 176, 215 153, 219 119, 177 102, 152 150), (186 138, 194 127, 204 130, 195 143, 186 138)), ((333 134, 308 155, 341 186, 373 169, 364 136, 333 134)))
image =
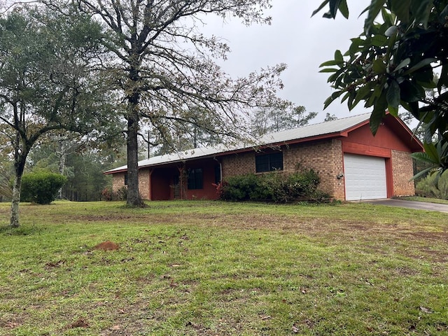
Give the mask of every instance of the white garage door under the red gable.
POLYGON ((347 201, 387 198, 384 158, 344 154, 344 181, 347 201))

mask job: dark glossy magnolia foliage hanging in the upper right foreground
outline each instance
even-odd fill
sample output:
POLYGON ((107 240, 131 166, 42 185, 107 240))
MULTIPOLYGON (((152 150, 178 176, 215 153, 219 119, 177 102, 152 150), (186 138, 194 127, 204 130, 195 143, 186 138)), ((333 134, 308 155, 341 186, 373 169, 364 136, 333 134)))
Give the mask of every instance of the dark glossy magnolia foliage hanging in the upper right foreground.
MULTIPOLYGON (((349 17, 346 0, 325 0, 313 15, 327 5, 324 17, 335 18, 338 11, 349 17)), ((339 97, 349 109, 363 101, 372 108, 375 133, 386 110, 398 117, 402 106, 425 130, 426 153, 414 157, 443 172, 448 169, 448 1, 371 0, 364 12, 364 31, 351 39, 349 50, 344 55, 336 50, 335 59, 321 64, 335 88, 325 107, 339 97), (436 89, 433 97, 428 89, 436 89)))

